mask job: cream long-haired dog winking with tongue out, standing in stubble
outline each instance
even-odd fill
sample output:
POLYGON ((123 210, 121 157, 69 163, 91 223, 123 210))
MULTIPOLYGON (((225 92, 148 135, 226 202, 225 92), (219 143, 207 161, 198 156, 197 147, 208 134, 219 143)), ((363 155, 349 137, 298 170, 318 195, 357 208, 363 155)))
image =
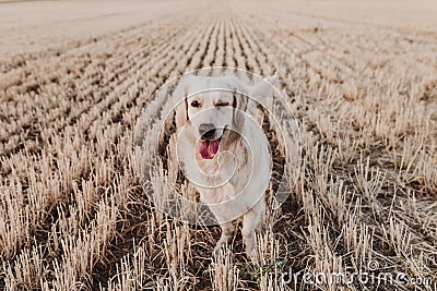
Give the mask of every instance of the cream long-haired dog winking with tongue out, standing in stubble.
POLYGON ((234 233, 243 217, 247 256, 256 257, 256 230, 265 211, 271 174, 269 142, 250 118, 253 100, 273 92, 276 76, 247 86, 236 76, 182 76, 174 90, 181 100, 175 112, 177 155, 181 170, 209 206, 222 229, 214 253, 234 233), (253 98, 253 99, 252 99, 253 98))

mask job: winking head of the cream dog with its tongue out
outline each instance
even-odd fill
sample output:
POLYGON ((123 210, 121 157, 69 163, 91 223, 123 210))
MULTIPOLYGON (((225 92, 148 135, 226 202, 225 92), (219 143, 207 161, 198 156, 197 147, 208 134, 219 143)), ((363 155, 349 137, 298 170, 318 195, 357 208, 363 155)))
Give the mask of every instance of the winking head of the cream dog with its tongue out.
POLYGON ((223 138, 241 132, 247 95, 267 95, 269 90, 265 85, 247 88, 233 76, 185 76, 174 93, 182 99, 176 108, 176 126, 189 125, 200 156, 213 159, 223 138))

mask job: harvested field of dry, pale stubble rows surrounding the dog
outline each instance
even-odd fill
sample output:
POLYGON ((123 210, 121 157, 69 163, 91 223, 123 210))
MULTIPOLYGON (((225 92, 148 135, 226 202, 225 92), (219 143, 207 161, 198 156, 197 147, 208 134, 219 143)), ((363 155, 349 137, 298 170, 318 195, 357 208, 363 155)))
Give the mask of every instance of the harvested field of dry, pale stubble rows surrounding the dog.
POLYGON ((424 0, 0 1, 0 289, 437 290, 435 15, 424 0), (240 234, 212 257, 220 228, 166 217, 135 172, 153 93, 208 66, 276 72, 299 125, 257 264, 240 234))

